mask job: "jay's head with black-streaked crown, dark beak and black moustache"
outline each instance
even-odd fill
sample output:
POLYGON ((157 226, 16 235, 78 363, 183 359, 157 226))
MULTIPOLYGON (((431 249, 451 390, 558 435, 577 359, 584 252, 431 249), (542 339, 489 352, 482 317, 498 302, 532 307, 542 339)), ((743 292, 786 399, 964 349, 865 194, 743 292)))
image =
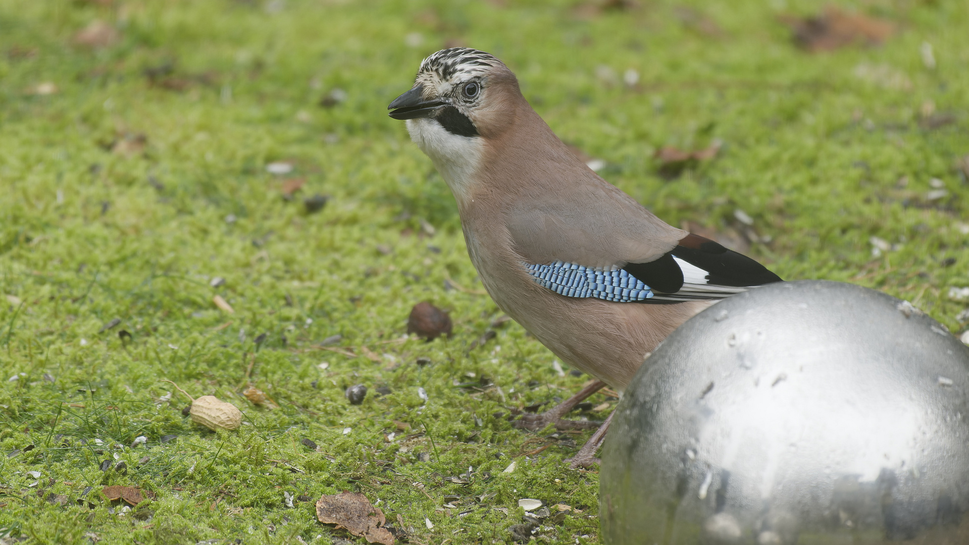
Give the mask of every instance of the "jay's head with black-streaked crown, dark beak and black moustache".
POLYGON ((500 60, 478 49, 453 47, 424 59, 414 87, 388 109, 392 118, 408 120, 412 136, 488 138, 514 121, 520 97, 515 75, 500 60))

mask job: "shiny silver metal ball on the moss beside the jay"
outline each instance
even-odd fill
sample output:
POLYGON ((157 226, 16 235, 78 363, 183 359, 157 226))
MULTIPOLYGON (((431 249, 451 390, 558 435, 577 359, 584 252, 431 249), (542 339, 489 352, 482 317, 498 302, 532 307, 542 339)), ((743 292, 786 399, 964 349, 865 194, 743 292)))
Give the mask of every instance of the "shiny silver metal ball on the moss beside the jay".
POLYGON ((969 348, 911 304, 771 284, 691 318, 612 419, 601 537, 969 544, 969 348))

